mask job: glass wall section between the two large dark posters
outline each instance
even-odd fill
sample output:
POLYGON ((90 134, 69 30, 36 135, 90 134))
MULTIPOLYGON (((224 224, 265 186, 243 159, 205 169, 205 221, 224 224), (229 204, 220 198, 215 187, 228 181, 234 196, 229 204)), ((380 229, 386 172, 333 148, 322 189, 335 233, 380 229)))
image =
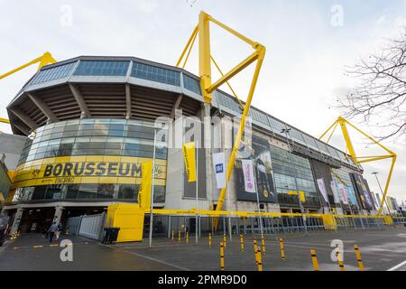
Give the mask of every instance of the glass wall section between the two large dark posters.
POLYGON ((318 192, 309 159, 271 145, 271 158, 275 189, 279 202, 298 204, 298 197, 288 195, 288 191, 304 191, 304 206, 319 206, 318 192))

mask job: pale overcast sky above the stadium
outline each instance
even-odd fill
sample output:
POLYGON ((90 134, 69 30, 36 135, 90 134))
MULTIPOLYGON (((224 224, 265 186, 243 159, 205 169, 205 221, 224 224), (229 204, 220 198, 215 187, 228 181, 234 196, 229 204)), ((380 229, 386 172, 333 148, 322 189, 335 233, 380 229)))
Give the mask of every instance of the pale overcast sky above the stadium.
MULTIPOLYGON (((0 0, 0 73, 51 51, 58 61, 78 55, 135 56, 174 65, 189 34, 205 10, 267 49, 253 104, 292 126, 319 136, 340 115, 337 97, 354 85, 344 67, 360 56, 379 51, 384 39, 401 33, 406 2, 348 1, 5 1, 0 0)), ((212 30, 213 55, 222 70, 230 69, 252 50, 218 29, 212 30)), ((198 74, 196 53, 187 70, 198 74)), ((0 80, 0 117, 36 68, 0 80)), ((233 81, 245 99, 252 70, 233 81)), ((356 123, 365 132, 375 128, 356 123)), ((6 125, 0 130, 9 132, 6 125)), ((354 135, 361 154, 379 154, 354 135)), ((404 139, 404 138, 403 138, 404 139)), ((343 148, 337 135, 333 144, 343 148)), ((390 195, 406 200, 405 142, 384 142, 398 154, 390 195)), ((364 165, 384 185, 389 162, 364 165)))

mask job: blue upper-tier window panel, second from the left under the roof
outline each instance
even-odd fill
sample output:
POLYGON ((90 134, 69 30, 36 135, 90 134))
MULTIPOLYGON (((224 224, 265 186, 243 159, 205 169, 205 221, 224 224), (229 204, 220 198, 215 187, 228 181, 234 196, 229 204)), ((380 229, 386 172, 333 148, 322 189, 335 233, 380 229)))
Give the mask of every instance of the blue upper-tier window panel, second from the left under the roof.
POLYGON ((125 76, 130 61, 80 61, 75 75, 125 76))

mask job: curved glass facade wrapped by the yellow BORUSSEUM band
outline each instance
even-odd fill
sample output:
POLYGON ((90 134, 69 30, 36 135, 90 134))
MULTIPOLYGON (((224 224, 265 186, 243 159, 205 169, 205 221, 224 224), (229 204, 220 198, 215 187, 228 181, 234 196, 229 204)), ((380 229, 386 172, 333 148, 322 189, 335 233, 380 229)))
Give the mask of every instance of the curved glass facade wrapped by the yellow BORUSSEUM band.
MULTIPOLYGON (((14 201, 133 199, 141 163, 153 156, 154 124, 144 120, 75 119, 38 128, 14 178, 14 201)), ((155 202, 163 202, 166 143, 157 142, 155 202)))

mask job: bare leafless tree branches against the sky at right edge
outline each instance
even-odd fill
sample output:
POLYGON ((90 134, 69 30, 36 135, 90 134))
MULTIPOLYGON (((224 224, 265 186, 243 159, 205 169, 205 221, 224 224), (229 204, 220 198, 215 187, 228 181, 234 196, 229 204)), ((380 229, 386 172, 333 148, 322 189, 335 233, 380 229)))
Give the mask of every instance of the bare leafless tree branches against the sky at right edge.
POLYGON ((338 99, 344 116, 376 124, 380 140, 406 141, 406 27, 399 39, 346 67, 346 73, 359 84, 338 99))

